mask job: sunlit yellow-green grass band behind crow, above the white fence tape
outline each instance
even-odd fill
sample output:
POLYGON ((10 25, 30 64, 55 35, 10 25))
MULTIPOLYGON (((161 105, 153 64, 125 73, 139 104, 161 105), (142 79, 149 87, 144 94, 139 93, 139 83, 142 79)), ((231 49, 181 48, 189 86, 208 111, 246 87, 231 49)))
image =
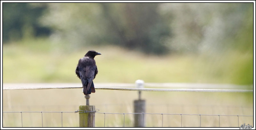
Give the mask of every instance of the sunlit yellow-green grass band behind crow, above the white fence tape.
POLYGON ((74 50, 65 43, 47 39, 25 40, 3 45, 4 83, 80 82, 75 75, 78 60, 88 50, 102 55, 95 60, 99 73, 95 82, 134 83, 253 83, 253 54, 172 54, 154 56, 114 46, 74 50))

